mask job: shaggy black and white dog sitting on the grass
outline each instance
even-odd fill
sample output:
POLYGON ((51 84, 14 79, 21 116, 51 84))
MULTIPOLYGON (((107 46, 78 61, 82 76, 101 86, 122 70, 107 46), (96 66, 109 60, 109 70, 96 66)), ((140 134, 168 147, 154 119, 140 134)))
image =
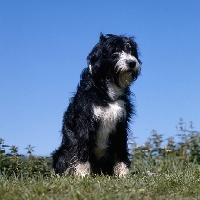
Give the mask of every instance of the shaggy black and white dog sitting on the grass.
POLYGON ((58 174, 129 173, 130 84, 140 73, 132 37, 102 35, 87 57, 77 92, 64 113, 62 142, 53 152, 58 174))

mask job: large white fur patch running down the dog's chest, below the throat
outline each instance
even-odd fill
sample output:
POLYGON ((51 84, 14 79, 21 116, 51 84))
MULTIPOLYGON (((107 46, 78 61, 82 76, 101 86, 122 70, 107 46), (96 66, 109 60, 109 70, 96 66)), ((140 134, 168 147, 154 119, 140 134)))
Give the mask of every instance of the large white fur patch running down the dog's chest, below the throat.
POLYGON ((97 130, 97 140, 95 154, 98 158, 105 153, 109 134, 115 130, 116 123, 126 117, 124 101, 118 100, 108 106, 94 106, 94 115, 100 120, 100 126, 97 130))

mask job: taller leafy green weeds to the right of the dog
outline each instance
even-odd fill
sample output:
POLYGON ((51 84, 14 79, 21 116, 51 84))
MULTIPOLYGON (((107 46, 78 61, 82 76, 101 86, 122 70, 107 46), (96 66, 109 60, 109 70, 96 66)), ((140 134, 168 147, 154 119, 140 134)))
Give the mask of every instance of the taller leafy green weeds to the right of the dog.
POLYGON ((153 171, 162 172, 171 163, 200 164, 200 132, 193 130, 192 122, 188 130, 182 119, 177 131, 178 142, 174 137, 164 139, 163 135, 153 130, 143 146, 132 143, 132 168, 141 171, 144 166, 151 165, 153 171))

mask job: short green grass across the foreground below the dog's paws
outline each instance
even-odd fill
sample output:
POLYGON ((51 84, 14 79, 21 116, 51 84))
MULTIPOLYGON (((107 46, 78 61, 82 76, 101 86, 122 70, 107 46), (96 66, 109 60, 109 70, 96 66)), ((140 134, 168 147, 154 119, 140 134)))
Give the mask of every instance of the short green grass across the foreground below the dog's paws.
POLYGON ((163 173, 125 178, 1 174, 0 199, 200 199, 200 167, 179 163, 163 173))

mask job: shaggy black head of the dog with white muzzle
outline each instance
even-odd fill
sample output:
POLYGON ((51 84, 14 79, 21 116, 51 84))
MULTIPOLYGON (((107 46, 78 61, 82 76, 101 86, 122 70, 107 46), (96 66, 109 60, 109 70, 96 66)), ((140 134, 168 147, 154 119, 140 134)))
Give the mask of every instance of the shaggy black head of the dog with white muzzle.
POLYGON ((142 63, 138 54, 133 37, 101 34, 99 43, 87 57, 88 68, 95 79, 126 88, 140 74, 142 63))

